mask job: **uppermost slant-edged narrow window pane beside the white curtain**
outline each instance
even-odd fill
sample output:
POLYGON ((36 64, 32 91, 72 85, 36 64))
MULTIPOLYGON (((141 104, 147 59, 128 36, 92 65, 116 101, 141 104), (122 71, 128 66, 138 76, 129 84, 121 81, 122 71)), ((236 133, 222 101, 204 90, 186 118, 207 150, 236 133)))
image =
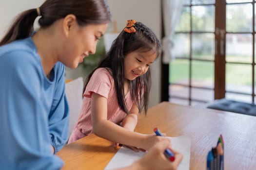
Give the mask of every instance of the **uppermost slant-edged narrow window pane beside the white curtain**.
POLYGON ((189 32, 190 31, 190 7, 183 7, 177 25, 176 32, 189 32))

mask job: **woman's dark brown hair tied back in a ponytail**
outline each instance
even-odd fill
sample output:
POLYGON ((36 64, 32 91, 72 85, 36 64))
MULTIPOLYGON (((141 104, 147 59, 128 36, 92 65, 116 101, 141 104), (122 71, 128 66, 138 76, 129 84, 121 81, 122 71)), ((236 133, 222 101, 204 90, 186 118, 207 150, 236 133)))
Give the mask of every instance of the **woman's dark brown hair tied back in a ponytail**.
MULTIPOLYGON (((39 7, 39 25, 46 28, 56 20, 73 14, 80 26, 104 24, 111 20, 109 7, 105 0, 45 0, 39 7)), ((33 24, 38 17, 37 9, 22 12, 12 23, 0 41, 0 46, 23 39, 34 31, 33 24)))

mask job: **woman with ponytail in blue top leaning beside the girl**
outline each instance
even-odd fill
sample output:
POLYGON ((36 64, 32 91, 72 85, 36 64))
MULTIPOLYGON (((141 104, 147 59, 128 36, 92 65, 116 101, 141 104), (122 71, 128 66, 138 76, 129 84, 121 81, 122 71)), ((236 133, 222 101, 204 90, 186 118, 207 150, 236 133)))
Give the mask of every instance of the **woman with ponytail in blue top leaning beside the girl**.
POLYGON ((95 53, 109 22, 105 0, 45 0, 13 22, 0 41, 1 169, 62 167, 54 153, 68 138, 64 66, 95 53))

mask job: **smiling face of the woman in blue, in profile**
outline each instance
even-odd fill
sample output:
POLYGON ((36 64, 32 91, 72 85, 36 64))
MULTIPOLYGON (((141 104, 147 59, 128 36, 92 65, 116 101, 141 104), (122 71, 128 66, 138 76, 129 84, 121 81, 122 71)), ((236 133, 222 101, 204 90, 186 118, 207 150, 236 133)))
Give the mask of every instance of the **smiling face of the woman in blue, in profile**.
POLYGON ((98 39, 105 34, 108 24, 72 25, 72 30, 59 51, 59 61, 69 68, 77 68, 83 58, 94 54, 98 39))

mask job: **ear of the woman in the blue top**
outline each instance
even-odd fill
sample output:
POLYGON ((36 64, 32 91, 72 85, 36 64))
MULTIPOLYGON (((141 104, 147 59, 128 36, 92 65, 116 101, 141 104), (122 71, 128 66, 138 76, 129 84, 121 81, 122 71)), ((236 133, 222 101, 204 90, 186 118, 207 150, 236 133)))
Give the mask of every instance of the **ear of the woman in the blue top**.
POLYGON ((70 32, 75 28, 76 25, 77 25, 77 18, 75 15, 69 14, 66 17, 64 17, 63 24, 62 24, 64 34, 68 36, 70 32))

